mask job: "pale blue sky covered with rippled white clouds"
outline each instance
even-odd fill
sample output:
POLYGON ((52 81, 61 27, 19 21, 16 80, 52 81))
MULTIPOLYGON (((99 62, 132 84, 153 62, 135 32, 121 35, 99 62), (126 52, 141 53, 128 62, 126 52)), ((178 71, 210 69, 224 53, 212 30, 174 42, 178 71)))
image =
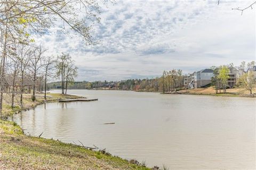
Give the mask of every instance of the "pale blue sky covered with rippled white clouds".
POLYGON ((183 74, 211 66, 255 60, 255 9, 248 1, 118 1, 102 6, 93 26, 97 45, 61 37, 58 26, 38 38, 47 55, 69 53, 76 80, 154 78, 163 70, 183 74))

